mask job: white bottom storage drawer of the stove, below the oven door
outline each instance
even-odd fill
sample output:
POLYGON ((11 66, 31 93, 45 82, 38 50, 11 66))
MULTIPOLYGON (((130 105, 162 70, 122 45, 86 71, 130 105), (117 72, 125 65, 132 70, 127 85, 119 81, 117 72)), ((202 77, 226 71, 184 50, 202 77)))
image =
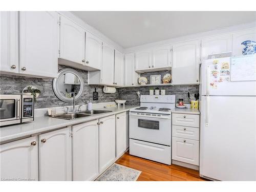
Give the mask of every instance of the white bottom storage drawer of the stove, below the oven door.
POLYGON ((130 155, 150 159, 164 164, 171 164, 170 146, 130 139, 130 155))

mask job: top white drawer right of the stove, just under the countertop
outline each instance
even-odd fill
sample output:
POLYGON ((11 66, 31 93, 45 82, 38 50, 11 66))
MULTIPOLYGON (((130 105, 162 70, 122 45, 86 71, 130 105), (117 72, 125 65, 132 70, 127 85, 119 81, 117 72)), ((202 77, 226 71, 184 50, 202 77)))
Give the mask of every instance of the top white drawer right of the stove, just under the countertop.
POLYGON ((173 125, 199 127, 199 115, 172 114, 173 125))

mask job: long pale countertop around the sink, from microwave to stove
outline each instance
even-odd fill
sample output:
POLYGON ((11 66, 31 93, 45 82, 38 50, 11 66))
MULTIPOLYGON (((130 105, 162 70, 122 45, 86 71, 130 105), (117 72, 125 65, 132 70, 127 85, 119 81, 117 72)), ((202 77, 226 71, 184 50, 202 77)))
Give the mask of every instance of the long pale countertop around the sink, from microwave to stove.
MULTIPOLYGON (((42 132, 49 132, 60 129, 69 125, 79 124, 83 122, 92 121, 98 118, 129 111, 132 108, 137 108, 137 105, 115 106, 109 108, 98 108, 97 110, 108 110, 110 113, 95 114, 88 117, 82 117, 73 120, 58 119, 49 116, 35 117, 33 122, 8 125, 0 127, 0 142, 16 140, 19 138, 29 137, 31 135, 40 134, 42 132)), ((96 109, 95 109, 96 110, 96 109)))

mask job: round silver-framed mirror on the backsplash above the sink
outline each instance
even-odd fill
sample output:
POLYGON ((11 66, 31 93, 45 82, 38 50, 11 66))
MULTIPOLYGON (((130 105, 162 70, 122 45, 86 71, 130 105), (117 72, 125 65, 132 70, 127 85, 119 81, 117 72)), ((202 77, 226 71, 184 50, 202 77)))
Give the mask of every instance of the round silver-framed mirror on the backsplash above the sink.
POLYGON ((75 93, 75 100, 82 96, 83 79, 76 70, 62 69, 59 71, 58 77, 53 79, 52 87, 60 100, 73 102, 73 93, 75 93))

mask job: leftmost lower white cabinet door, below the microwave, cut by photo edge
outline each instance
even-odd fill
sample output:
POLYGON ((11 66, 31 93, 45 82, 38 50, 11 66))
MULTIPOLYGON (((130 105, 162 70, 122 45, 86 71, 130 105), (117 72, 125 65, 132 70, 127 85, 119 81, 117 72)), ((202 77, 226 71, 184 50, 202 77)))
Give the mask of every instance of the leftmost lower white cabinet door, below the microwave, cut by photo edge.
POLYGON ((31 179, 38 181, 38 147, 36 137, 0 145, 1 180, 31 179), (32 145, 35 142, 35 145, 32 145))

